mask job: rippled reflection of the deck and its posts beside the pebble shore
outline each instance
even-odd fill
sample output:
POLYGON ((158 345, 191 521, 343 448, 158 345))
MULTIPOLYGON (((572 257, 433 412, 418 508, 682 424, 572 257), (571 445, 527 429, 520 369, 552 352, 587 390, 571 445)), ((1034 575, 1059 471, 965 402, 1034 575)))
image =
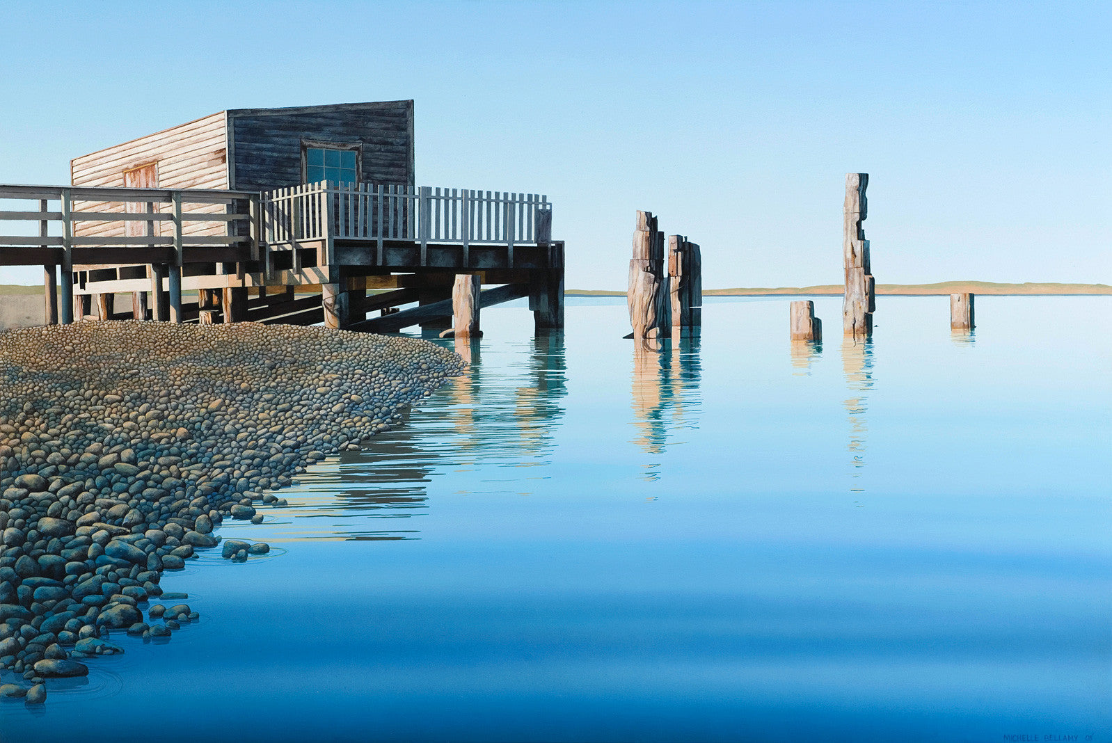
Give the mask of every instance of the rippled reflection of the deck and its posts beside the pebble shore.
POLYGON ((492 368, 484 367, 481 340, 440 343, 454 344, 467 371, 361 450, 344 452, 301 475, 300 486, 281 494, 290 502, 282 516, 295 517, 292 528, 272 541, 418 538, 409 517, 428 509, 434 479, 486 465, 549 460, 567 394, 563 333, 538 335, 527 346, 499 345, 492 368))

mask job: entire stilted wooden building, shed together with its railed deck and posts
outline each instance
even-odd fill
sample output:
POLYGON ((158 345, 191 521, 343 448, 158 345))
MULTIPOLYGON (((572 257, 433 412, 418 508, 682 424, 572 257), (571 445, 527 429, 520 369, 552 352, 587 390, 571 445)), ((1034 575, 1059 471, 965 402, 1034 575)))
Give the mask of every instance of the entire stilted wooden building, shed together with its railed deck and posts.
POLYGON ((48 317, 62 323, 455 318, 469 335, 480 307, 528 297, 538 328, 564 324, 547 197, 416 187, 411 100, 221 111, 75 158, 69 187, 0 185, 0 199, 38 202, 0 211, 39 225, 0 235, 0 265, 42 265, 48 305, 60 278, 48 317))

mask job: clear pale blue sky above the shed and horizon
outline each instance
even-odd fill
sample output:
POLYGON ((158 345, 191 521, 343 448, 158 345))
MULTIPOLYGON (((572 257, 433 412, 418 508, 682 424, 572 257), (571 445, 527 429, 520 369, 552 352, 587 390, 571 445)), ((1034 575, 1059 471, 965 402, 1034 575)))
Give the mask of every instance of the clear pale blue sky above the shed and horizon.
MULTIPOLYGON (((417 182, 547 194, 568 286, 634 210, 707 287, 873 273, 1112 283, 1112 2, 80 2, 0 7, 0 182, 226 108, 413 98, 417 182)), ((0 284, 41 271, 0 268, 0 284)))

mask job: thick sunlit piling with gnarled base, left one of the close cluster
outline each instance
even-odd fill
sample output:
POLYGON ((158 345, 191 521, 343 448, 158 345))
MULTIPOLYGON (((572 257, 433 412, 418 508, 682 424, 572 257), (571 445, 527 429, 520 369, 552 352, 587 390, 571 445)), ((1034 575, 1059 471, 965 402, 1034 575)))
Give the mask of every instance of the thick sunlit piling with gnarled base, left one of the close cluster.
POLYGON ((656 229, 656 217, 651 211, 637 212, 626 303, 635 341, 646 344, 661 336, 661 328, 672 326, 668 317, 672 301, 664 275, 664 232, 656 229))

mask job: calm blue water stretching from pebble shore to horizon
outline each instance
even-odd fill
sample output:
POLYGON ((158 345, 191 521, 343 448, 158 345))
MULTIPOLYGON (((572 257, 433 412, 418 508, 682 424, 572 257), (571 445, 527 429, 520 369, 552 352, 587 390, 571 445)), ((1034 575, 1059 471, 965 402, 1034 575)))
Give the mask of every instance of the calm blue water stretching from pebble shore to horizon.
POLYGON ((468 377, 221 529, 271 556, 167 574, 199 623, 0 740, 1112 740, 1112 298, 882 297, 856 346, 840 303, 641 361, 623 300, 484 310, 468 377))

